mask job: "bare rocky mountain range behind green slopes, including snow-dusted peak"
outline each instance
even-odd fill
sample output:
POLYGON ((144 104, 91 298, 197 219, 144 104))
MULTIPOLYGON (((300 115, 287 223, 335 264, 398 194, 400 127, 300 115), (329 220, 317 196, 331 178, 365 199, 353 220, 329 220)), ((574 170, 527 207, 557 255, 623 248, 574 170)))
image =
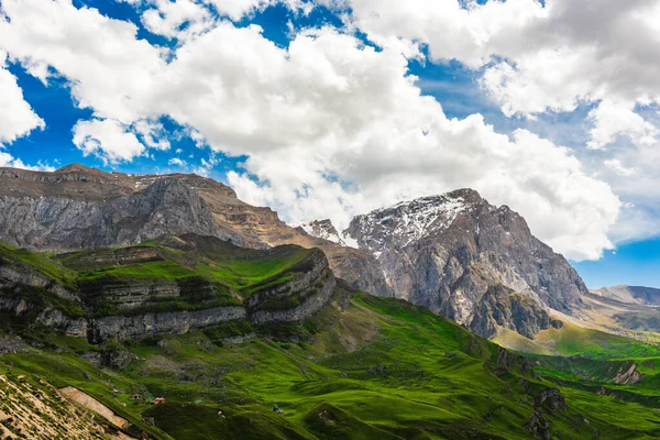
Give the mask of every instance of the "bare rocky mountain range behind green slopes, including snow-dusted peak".
POLYGON ((520 216, 470 189, 359 216, 340 234, 329 220, 292 228, 196 175, 0 168, 0 239, 11 244, 65 252, 187 233, 249 249, 318 248, 352 287, 428 306, 484 337, 560 326, 547 308, 571 315, 586 292, 520 216))

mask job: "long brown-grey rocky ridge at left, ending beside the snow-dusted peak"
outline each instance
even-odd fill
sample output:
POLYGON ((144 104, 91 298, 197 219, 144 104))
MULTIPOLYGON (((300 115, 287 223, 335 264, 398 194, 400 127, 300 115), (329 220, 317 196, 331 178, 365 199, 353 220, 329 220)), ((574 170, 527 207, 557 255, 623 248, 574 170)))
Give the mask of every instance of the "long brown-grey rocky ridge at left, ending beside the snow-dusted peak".
POLYGON ((319 248, 354 287, 392 295, 369 252, 288 227, 270 208, 248 205, 210 178, 105 173, 77 164, 53 173, 0 168, 0 240, 11 244, 63 252, 186 233, 252 249, 319 248))

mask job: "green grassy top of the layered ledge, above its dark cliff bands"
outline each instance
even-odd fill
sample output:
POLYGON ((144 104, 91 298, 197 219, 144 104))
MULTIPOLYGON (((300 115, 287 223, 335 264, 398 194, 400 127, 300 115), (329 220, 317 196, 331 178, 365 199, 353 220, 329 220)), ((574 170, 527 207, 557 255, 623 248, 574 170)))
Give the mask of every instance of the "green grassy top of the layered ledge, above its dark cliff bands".
MULTIPOLYGON (((82 283, 182 282, 204 277, 244 293, 264 282, 304 271, 309 256, 319 252, 298 246, 268 251, 238 248, 213 238, 167 237, 138 246, 65 254, 56 258, 76 271, 82 283)), ((52 263, 53 264, 53 263, 52 263)))

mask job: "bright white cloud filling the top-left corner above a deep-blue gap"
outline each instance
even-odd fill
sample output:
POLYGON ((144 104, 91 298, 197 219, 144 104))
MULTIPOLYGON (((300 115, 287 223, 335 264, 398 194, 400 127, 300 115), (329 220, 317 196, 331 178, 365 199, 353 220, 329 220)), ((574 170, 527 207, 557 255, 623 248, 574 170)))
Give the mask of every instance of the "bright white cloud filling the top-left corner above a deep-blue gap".
MULTIPOLYGON (((130 124, 152 117, 142 96, 165 66, 164 50, 136 40, 134 24, 70 0, 3 0, 1 8, 0 50, 29 68, 52 66, 98 118, 130 124)), ((43 68, 35 74, 45 75, 43 68)))

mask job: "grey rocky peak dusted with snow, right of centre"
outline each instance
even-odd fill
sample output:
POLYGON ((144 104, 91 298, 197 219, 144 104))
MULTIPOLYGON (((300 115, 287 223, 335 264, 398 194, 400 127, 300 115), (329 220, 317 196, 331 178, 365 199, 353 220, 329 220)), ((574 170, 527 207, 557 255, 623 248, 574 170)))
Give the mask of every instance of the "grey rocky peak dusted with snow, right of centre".
POLYGON ((518 213, 471 189, 358 216, 344 235, 374 254, 397 297, 484 337, 497 327, 532 337, 553 324, 546 307, 571 314, 587 293, 518 213))

